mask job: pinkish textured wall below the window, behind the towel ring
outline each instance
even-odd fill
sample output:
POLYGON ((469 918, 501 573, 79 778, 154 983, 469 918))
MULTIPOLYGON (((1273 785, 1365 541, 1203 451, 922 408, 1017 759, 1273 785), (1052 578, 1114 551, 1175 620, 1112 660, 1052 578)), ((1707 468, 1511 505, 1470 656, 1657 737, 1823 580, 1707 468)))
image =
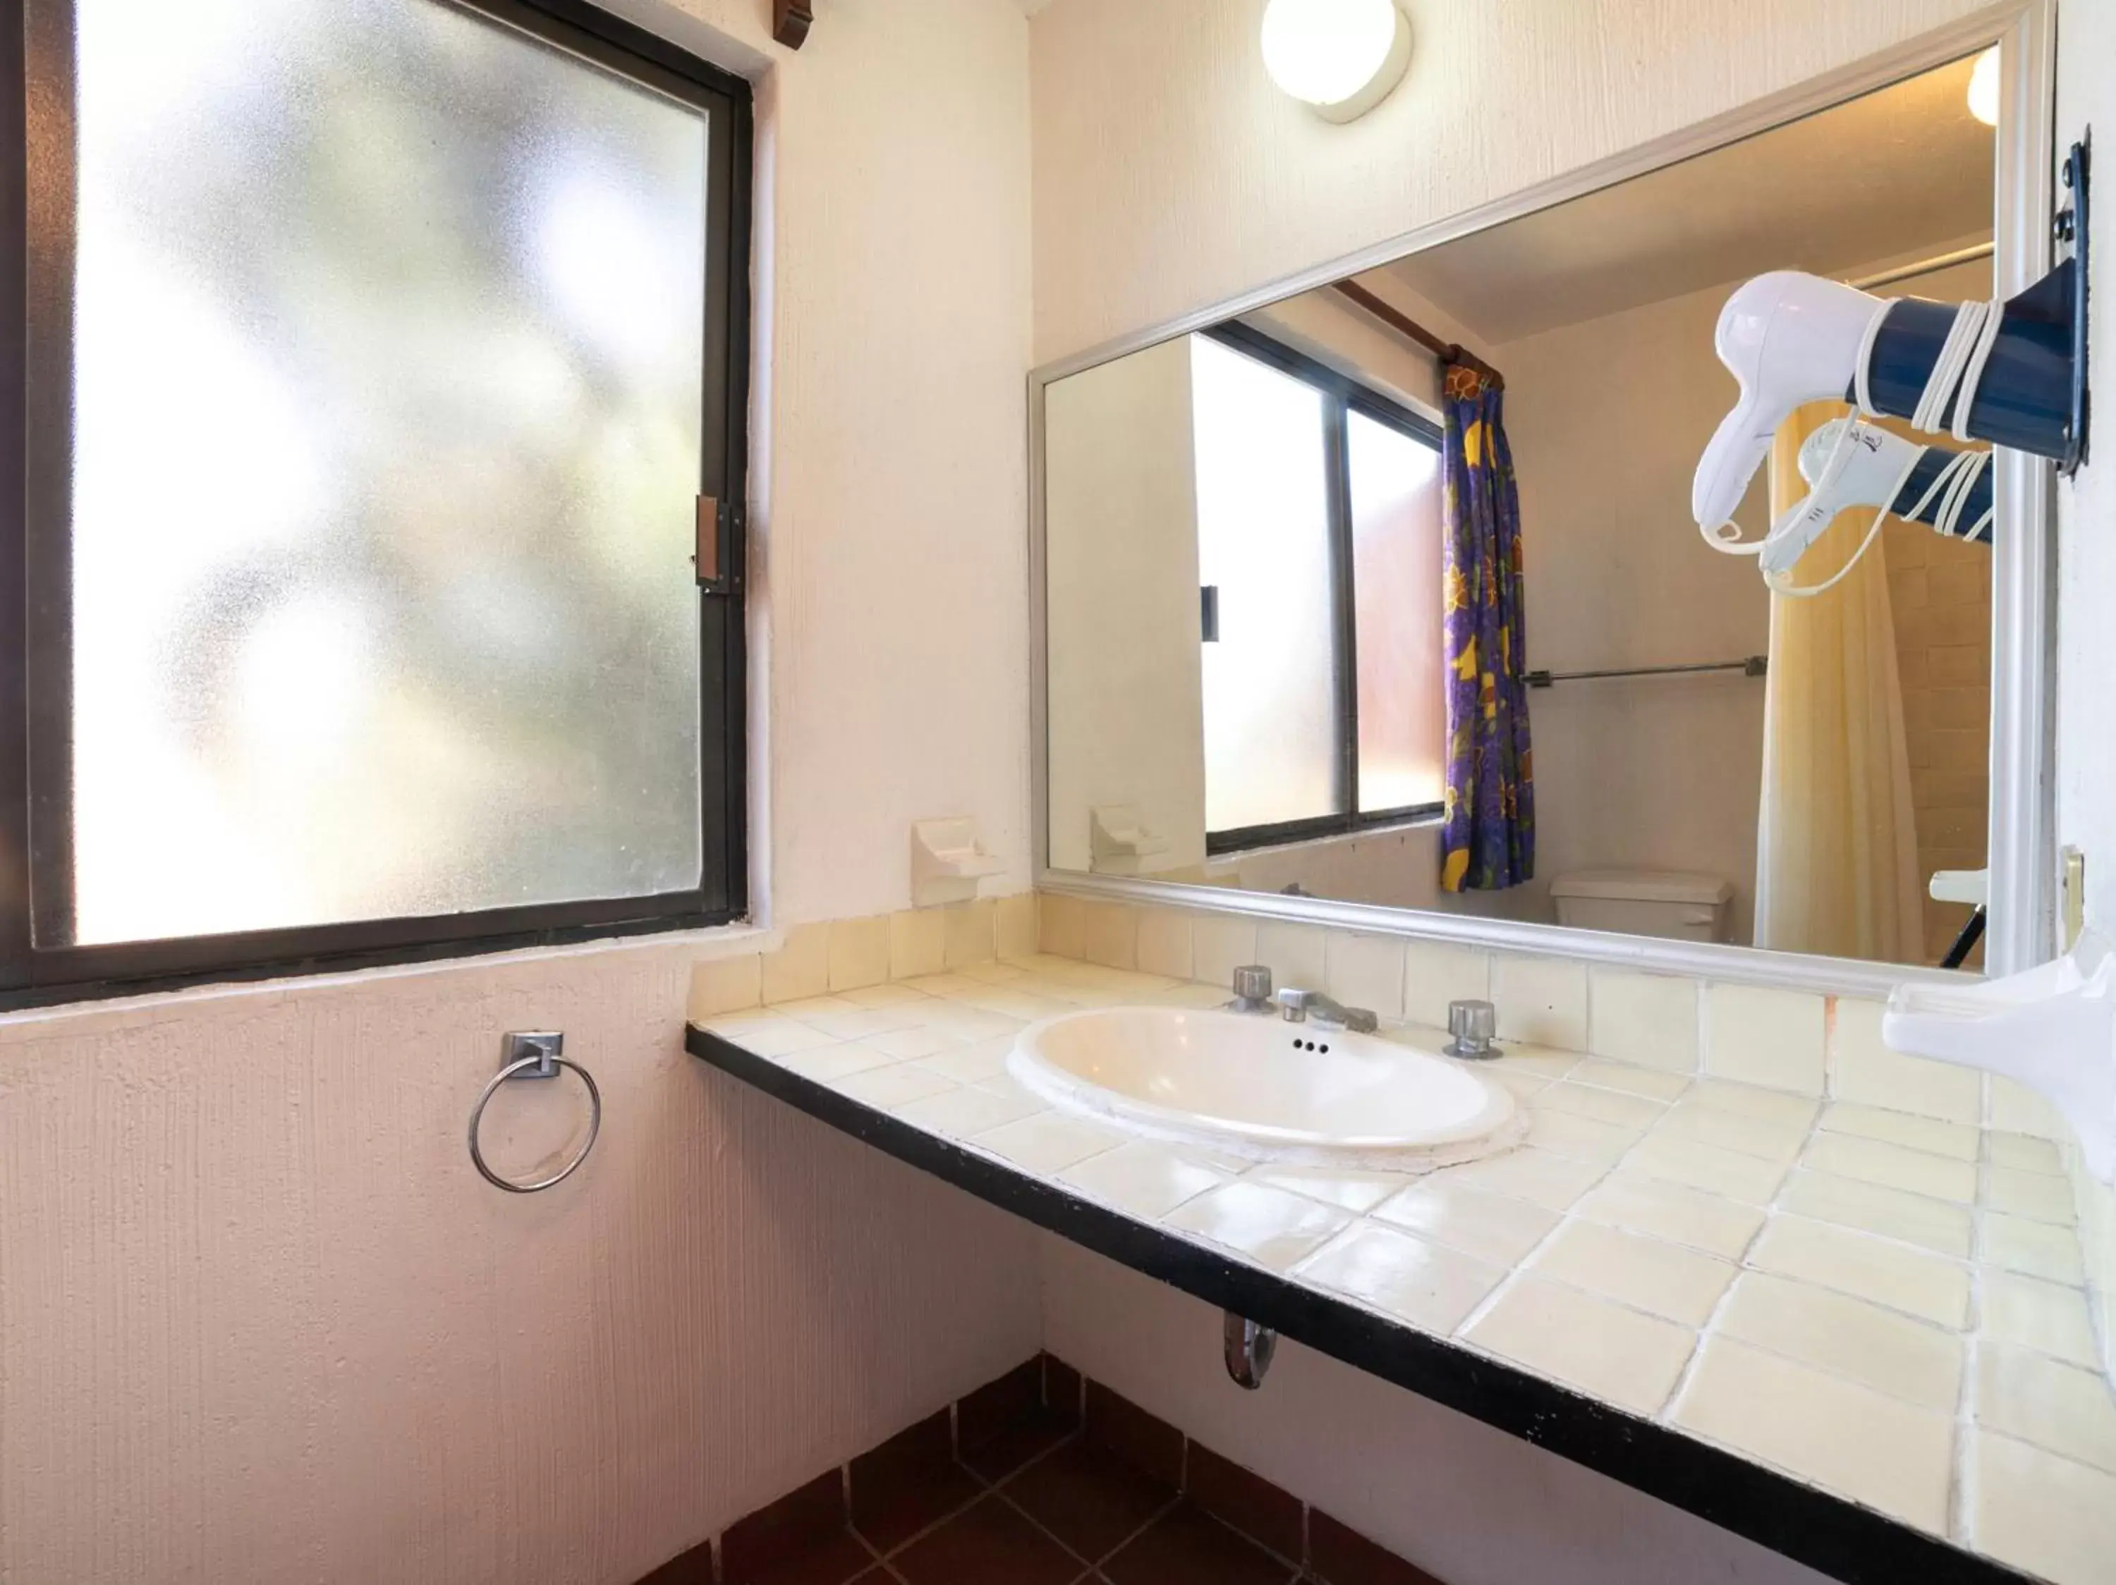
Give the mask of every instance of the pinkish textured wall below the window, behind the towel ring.
POLYGON ((686 1056, 694 957, 0 1022, 0 1581, 622 1585, 1030 1354, 1033 1234, 686 1056), (506 1196, 544 1026, 607 1119, 506 1196))

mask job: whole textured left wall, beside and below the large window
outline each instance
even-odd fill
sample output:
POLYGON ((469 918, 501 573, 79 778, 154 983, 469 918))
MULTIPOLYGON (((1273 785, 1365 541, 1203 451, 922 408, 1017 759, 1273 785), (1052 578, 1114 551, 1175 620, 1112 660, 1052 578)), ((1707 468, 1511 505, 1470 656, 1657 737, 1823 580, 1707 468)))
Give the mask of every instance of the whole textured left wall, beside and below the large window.
MULTIPOLYGON (((758 899, 904 908, 946 813, 1022 876, 1028 25, 612 6, 760 76, 758 899)), ((1026 1232, 703 1073, 692 957, 0 1020, 0 1581, 620 1585, 1033 1352, 1026 1232), (535 1198, 461 1136, 525 1026, 609 1105, 535 1198)))

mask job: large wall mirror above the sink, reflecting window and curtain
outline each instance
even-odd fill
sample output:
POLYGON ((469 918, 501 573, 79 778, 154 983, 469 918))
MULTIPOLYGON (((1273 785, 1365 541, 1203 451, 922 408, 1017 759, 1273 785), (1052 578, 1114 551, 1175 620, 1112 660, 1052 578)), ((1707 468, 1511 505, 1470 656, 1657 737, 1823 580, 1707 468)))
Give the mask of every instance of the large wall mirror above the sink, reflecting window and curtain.
MULTIPOLYGON (((2017 188, 2040 180, 2046 110, 2006 51, 1877 68, 1644 174, 1041 375, 1050 870, 1513 940, 2036 957, 2046 463, 1991 468, 1989 521, 1953 533, 1845 510, 1796 567, 1849 565, 1816 597, 1773 595, 1691 510, 1735 402, 1714 326, 1744 281, 1962 303, 2040 273, 2033 222, 2008 216, 2033 214, 2017 188)), ((1733 514, 1748 535, 1811 491, 1843 413, 1786 419, 1733 514)))

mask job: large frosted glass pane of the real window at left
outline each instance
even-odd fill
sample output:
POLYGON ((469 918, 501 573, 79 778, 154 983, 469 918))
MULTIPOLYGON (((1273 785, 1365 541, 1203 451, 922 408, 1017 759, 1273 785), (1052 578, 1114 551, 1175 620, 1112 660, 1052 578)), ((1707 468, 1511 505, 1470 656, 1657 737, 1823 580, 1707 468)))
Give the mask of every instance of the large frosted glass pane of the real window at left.
POLYGON ((40 944, 696 889, 707 116, 440 0, 74 13, 40 944))

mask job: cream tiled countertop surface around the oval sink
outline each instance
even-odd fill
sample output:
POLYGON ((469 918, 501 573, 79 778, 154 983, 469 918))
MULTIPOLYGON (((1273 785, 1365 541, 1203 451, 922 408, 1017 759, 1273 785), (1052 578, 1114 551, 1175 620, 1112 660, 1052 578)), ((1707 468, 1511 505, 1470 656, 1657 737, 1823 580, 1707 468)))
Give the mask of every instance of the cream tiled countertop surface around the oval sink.
POLYGON ((1526 1105, 1519 1149, 1426 1177, 1337 1172, 1138 1141, 1005 1071, 1030 1020, 1225 997, 1026 957, 703 1028, 1130 1219, 1968 1551, 2055 1585, 2116 1581, 2116 1397, 2057 1143, 1509 1045, 1483 1071, 1526 1105))

